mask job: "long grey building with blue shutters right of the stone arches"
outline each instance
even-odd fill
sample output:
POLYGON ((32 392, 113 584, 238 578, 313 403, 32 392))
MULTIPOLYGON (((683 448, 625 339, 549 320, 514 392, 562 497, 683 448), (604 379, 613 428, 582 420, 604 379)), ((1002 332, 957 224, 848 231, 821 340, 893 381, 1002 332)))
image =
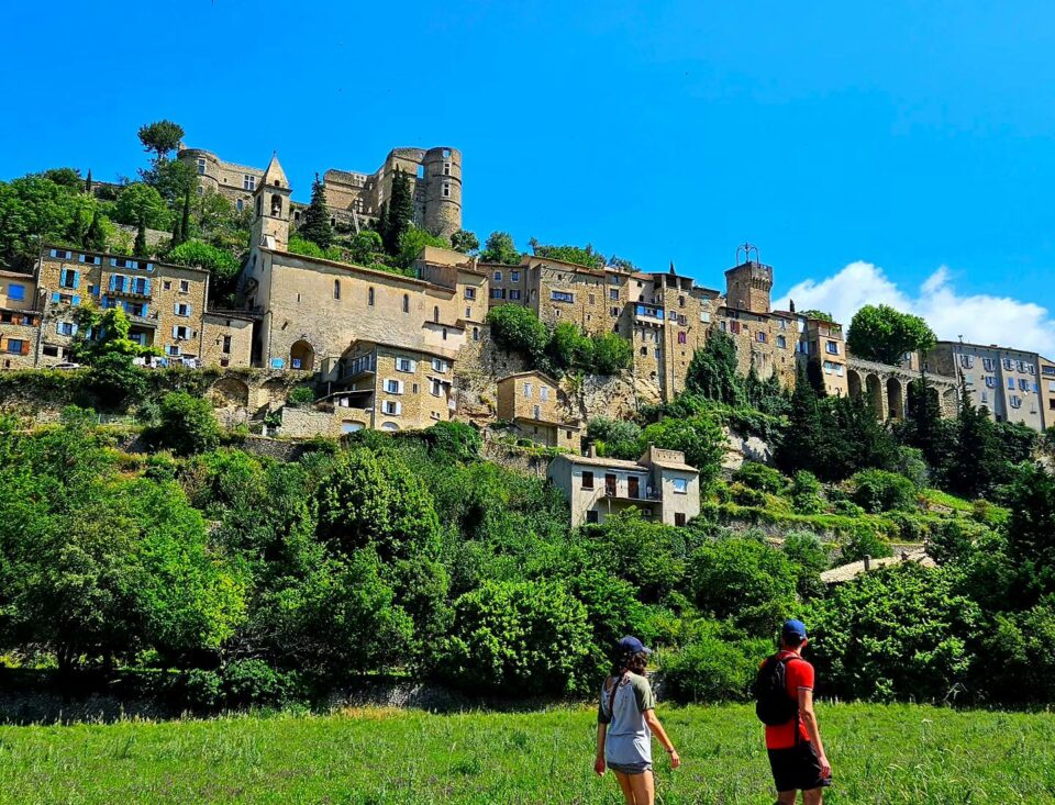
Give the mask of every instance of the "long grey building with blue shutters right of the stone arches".
MULTIPOLYGON (((1017 422, 1034 431, 1046 424, 1041 381, 1042 358, 1024 349, 939 342, 926 355, 928 369, 956 378, 971 403, 997 422, 1017 422)), ((1046 361, 1045 361, 1046 362, 1046 361)))

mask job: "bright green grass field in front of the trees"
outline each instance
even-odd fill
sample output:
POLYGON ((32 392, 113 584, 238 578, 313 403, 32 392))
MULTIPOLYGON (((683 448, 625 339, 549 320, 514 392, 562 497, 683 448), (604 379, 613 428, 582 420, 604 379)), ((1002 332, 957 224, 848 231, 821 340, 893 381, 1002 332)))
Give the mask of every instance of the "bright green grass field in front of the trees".
MULTIPOLYGON (((821 705, 831 804, 1055 802, 1055 716, 821 705)), ((658 802, 770 805, 747 706, 660 707, 684 765, 658 802)), ((593 712, 0 727, 0 803, 620 803, 592 773, 593 712)), ((665 759, 656 747, 656 758, 665 759)))

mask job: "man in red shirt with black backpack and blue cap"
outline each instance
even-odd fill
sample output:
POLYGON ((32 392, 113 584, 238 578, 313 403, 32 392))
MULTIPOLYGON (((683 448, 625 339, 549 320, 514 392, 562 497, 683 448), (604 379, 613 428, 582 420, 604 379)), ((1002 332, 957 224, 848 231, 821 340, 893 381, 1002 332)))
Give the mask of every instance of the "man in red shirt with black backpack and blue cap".
POLYGON ((804 624, 788 620, 780 633, 780 650, 762 663, 756 682, 778 805, 795 805, 799 791, 803 805, 820 805, 824 787, 832 784, 832 767, 813 712, 813 666, 802 659, 806 645, 804 624))

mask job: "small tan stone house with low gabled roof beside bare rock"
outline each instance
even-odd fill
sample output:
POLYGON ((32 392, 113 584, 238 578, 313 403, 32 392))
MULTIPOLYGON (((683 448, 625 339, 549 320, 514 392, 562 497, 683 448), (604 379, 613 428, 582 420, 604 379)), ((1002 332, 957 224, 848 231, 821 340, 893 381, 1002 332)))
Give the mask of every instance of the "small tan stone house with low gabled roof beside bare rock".
POLYGON ((498 418, 512 425, 515 435, 543 447, 578 452, 579 421, 568 416, 559 383, 541 371, 509 374, 498 381, 498 418))

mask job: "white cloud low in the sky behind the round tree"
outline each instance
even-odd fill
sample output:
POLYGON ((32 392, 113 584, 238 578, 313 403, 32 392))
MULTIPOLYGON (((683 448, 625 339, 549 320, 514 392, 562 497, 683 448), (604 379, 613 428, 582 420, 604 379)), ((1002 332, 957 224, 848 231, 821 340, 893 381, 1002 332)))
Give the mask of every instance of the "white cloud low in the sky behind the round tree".
POLYGON ((942 339, 963 336, 975 344, 999 344, 1055 357, 1055 320, 1045 308, 1010 297, 960 294, 945 266, 918 290, 907 292, 878 266, 858 260, 820 281, 799 282, 774 302, 774 309, 787 310, 792 299, 797 310, 828 311, 844 324, 849 324, 860 306, 885 303, 923 316, 942 339))

